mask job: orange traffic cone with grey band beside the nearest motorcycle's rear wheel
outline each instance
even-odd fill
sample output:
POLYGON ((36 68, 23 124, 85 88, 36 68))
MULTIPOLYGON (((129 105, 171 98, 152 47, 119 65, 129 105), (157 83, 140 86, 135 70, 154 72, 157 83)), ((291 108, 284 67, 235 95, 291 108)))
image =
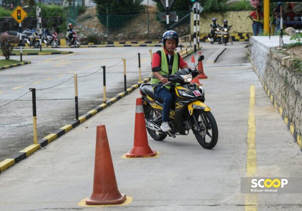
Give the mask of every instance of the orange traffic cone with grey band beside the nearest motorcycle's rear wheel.
POLYGON ((134 146, 131 151, 126 154, 126 157, 154 157, 156 155, 156 151, 152 150, 148 145, 147 130, 142 108, 142 100, 141 98, 136 98, 134 146))

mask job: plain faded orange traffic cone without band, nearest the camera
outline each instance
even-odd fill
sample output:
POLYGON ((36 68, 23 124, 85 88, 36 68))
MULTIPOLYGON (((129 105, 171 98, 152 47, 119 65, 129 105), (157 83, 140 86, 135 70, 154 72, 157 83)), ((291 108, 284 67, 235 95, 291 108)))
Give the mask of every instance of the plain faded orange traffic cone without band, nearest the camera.
POLYGON ((105 125, 98 125, 93 191, 86 204, 120 204, 125 199, 117 188, 105 125))

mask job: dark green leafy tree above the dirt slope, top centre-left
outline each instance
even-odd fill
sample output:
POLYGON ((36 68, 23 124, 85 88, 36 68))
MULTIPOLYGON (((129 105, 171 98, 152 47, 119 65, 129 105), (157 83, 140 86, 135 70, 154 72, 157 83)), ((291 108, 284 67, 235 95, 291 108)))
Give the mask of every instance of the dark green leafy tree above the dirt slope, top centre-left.
POLYGON ((109 15, 109 27, 124 24, 133 15, 143 12, 142 0, 94 0, 97 4, 97 15, 102 24, 107 23, 109 15))

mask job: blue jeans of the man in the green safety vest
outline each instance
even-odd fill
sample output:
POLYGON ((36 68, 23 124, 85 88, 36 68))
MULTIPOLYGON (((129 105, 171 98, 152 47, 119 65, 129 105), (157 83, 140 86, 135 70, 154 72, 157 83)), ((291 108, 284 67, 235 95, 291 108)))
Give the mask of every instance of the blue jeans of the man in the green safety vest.
POLYGON ((162 85, 158 85, 154 89, 154 95, 164 101, 163 103, 163 122, 168 122, 169 121, 169 114, 170 114, 170 109, 171 105, 173 103, 173 96, 169 89, 167 89, 165 86, 161 88, 162 85))

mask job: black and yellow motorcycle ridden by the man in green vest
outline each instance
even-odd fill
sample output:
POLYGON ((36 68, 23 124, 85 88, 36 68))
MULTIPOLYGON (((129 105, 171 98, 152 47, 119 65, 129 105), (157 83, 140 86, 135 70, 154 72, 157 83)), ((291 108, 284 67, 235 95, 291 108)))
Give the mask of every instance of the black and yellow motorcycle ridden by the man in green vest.
MULTIPOLYGON (((202 61, 200 56, 198 61, 202 61)), ((198 65, 198 64, 197 64, 198 65)), ((160 68, 160 67, 159 67, 160 68)), ((198 71, 181 69, 175 74, 168 75, 168 83, 160 84, 162 87, 171 85, 174 99, 174 108, 170 110, 169 126, 172 131, 164 132, 161 129, 163 100, 154 95, 151 84, 142 83, 139 87, 143 102, 145 125, 149 135, 163 141, 168 135, 188 135, 192 130, 198 143, 205 149, 212 149, 217 144, 218 128, 211 110, 204 104, 204 90, 195 83, 190 83, 198 71)))

